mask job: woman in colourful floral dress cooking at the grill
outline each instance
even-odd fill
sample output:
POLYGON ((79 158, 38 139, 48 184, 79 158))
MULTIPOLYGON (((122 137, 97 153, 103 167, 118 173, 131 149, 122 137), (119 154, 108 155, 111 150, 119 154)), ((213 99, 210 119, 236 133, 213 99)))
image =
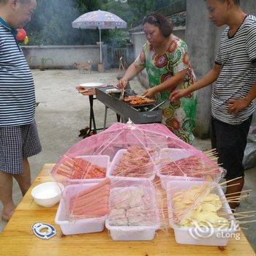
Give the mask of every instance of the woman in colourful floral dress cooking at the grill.
MULTIPOLYGON (((146 68, 150 88, 143 95, 161 102, 169 99, 175 89, 185 89, 195 83, 195 74, 189 63, 187 45, 172 34, 173 25, 167 18, 151 13, 144 18, 143 28, 147 42, 119 81, 119 87, 126 86, 129 80, 146 68)), ((194 140, 192 130, 195 128, 196 106, 195 93, 177 102, 168 101, 162 105, 162 124, 191 144, 194 140)))

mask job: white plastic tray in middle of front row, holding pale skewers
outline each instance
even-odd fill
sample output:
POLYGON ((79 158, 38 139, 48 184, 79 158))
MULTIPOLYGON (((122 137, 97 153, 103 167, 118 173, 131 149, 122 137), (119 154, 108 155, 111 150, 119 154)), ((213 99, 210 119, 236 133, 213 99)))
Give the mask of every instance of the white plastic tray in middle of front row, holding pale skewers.
MULTIPOLYGON (((114 188, 110 190, 110 206, 111 206, 111 195, 117 189, 132 189, 133 187, 125 187, 125 188, 114 188)), ((155 193, 154 187, 146 186, 146 193, 155 193)), ((123 191, 124 191, 123 190, 123 191)), ((152 200, 154 198, 152 197, 152 200)), ((157 205, 155 201, 153 201, 153 207, 155 207, 156 211, 158 212, 157 205)), ((156 231, 160 227, 160 220, 154 219, 156 222, 155 225, 147 225, 147 226, 113 226, 110 225, 109 219, 107 217, 105 226, 110 230, 110 236, 114 241, 149 241, 153 240, 156 231)))

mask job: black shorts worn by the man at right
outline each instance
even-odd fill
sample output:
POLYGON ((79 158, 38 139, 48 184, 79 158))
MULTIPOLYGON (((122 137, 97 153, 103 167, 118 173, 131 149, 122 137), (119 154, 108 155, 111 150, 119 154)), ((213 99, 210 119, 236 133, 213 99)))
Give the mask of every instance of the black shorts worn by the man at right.
POLYGON ((252 116, 241 124, 227 124, 211 116, 211 146, 216 148, 219 164, 227 170, 225 178, 244 177, 244 150, 252 116))

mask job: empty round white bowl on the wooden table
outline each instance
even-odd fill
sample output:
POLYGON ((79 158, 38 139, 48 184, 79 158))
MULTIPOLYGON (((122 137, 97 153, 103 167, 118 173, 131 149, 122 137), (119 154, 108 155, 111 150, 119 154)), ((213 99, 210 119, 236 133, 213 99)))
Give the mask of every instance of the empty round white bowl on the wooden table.
POLYGON ((39 206, 52 207, 61 199, 64 186, 54 181, 45 182, 34 187, 31 196, 39 206))

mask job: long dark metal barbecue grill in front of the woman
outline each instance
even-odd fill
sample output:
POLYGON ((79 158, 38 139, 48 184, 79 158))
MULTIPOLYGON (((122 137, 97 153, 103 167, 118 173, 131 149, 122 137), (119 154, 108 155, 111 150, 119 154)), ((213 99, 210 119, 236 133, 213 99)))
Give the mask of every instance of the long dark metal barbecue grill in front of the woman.
MULTIPOLYGON (((123 123, 127 122, 129 118, 135 124, 150 124, 160 123, 162 121, 162 108, 156 108, 150 111, 152 108, 157 106, 157 103, 148 103, 143 105, 129 105, 129 103, 119 100, 120 92, 116 94, 108 94, 106 90, 113 89, 114 87, 102 87, 96 89, 97 99, 105 105, 105 121, 107 119, 107 110, 110 108, 119 117, 123 123)), ((133 90, 127 90, 124 93, 124 97, 136 95, 133 90)))

